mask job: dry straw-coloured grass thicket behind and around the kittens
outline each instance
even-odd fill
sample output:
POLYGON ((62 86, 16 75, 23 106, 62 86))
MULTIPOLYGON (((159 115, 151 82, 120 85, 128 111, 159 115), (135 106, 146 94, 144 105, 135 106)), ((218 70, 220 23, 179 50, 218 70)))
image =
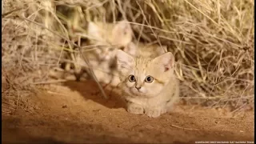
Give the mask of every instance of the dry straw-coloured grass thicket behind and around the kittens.
POLYGON ((131 23, 134 38, 167 45, 173 52, 185 102, 232 106, 235 111, 253 106, 254 1, 52 2, 4 3, 2 100, 12 103, 11 110, 26 94, 22 90, 30 91, 35 82, 47 83, 49 70, 74 61, 74 48, 79 47, 74 42, 80 45, 86 37, 87 21, 123 18, 131 23))

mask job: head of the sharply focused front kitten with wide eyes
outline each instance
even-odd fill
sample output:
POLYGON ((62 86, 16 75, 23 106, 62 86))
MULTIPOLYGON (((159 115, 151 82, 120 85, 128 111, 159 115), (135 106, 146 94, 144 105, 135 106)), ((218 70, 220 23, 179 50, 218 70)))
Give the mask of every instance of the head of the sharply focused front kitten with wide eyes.
POLYGON ((118 50, 117 63, 122 90, 134 97, 158 95, 174 74, 174 56, 170 52, 156 58, 134 58, 118 50))

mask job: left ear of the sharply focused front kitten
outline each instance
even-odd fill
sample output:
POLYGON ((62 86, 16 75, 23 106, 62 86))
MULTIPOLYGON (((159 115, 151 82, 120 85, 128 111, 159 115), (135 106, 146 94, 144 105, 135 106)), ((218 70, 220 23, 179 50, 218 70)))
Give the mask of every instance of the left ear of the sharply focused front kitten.
POLYGON ((129 70, 134 64, 134 58, 122 50, 117 50, 118 70, 129 70))

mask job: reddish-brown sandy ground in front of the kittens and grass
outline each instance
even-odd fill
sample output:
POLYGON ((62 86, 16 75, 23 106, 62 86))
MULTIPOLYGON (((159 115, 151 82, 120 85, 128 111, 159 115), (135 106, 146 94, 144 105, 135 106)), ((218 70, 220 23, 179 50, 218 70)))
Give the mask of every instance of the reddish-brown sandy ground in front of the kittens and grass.
POLYGON ((39 92, 27 100, 33 109, 2 114, 2 143, 254 143, 253 111, 229 118, 225 110, 177 105, 148 118, 127 113, 118 94, 105 100, 97 93, 94 82, 39 92))

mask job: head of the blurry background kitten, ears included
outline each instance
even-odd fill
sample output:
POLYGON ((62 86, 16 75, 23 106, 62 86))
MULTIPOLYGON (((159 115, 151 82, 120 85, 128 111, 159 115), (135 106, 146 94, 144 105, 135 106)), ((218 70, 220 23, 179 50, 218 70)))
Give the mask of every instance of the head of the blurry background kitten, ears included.
POLYGON ((126 47, 132 41, 132 30, 126 21, 118 23, 88 23, 88 37, 91 43, 101 45, 95 50, 100 60, 113 58, 115 50, 126 47))

